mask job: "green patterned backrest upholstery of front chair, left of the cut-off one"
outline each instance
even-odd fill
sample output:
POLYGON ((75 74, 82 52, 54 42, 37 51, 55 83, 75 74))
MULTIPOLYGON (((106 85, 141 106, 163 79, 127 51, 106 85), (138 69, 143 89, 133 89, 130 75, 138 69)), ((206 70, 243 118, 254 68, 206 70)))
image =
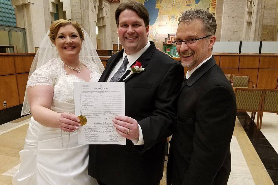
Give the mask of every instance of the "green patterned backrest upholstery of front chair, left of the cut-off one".
POLYGON ((262 91, 237 90, 236 102, 238 110, 258 110, 262 91))

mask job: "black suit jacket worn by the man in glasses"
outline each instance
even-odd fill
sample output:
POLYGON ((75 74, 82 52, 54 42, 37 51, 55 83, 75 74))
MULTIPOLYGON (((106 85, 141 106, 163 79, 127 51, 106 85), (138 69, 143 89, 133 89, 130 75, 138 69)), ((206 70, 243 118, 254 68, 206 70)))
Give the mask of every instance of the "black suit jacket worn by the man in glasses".
POLYGON ((236 116, 231 84, 212 57, 182 85, 167 185, 226 185, 236 116))

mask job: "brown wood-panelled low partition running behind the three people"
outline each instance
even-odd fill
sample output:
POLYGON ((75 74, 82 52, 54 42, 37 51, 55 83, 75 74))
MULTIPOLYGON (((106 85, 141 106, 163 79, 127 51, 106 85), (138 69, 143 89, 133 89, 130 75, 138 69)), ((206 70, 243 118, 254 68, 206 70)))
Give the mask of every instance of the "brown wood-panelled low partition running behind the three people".
MULTIPOLYGON (((35 53, 0 53, 0 110, 23 103, 29 69, 35 53)), ((255 88, 275 88, 278 84, 278 55, 214 54, 224 73, 250 76, 255 88)), ((109 56, 101 56, 103 66, 109 56)), ((175 57, 175 60, 180 58, 175 57)), ((185 73, 187 69, 184 69, 185 73)))

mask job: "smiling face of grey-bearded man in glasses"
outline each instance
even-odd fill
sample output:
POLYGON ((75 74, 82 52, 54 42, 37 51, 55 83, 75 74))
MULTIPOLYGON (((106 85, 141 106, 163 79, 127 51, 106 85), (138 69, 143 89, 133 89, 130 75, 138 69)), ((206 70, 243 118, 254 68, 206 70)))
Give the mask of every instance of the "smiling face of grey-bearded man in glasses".
MULTIPOLYGON (((190 38, 201 38, 206 36, 202 30, 202 21, 193 20, 190 23, 180 22, 176 40, 186 40, 190 38)), ((215 42, 215 36, 197 40, 193 44, 177 45, 177 51, 180 56, 181 64, 187 67, 189 71, 211 56, 211 48, 215 42)))

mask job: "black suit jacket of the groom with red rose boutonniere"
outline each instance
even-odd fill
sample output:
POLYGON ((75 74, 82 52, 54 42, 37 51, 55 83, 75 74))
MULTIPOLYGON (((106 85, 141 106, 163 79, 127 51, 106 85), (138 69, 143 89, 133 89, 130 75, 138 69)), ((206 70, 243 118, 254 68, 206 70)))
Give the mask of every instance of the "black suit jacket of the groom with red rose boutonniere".
MULTIPOLYGON (((111 56, 100 77, 107 81, 123 50, 111 56)), ((138 58, 146 71, 133 74, 125 82, 125 115, 142 128, 144 145, 90 145, 89 175, 107 185, 155 184, 162 179, 167 136, 176 119, 175 102, 182 86, 184 69, 151 46, 138 58)), ((129 70, 119 82, 129 74, 129 70)))

